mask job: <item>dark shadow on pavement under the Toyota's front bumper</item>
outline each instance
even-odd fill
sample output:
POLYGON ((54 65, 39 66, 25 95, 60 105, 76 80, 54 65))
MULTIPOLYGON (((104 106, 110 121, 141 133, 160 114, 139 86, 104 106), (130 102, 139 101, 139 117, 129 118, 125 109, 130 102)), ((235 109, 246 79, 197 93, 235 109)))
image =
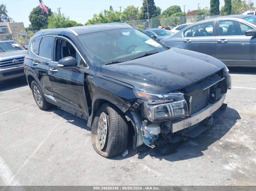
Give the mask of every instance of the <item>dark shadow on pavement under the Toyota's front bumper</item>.
POLYGON ((3 81, 0 82, 0 91, 6 91, 6 90, 11 90, 11 89, 15 89, 15 88, 21 88, 24 86, 27 86, 27 80, 24 77, 20 77, 20 78, 15 78, 12 80, 8 80, 8 81, 3 81))

